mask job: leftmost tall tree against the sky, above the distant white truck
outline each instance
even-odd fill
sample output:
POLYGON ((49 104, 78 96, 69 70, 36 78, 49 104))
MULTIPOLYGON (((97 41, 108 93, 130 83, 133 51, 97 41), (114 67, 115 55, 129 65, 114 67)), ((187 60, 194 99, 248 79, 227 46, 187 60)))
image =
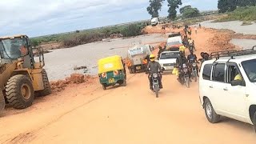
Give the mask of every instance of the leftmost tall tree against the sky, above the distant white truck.
POLYGON ((150 6, 146 8, 148 13, 152 18, 157 18, 159 16, 158 11, 162 8, 162 2, 165 0, 150 0, 150 6))

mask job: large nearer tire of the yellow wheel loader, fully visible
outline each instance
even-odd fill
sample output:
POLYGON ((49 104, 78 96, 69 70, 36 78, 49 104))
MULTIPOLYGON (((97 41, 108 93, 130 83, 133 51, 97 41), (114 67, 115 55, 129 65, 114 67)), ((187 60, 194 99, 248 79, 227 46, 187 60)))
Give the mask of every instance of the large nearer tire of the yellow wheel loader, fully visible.
POLYGON ((11 77, 6 85, 6 99, 16 109, 31 106, 34 102, 34 88, 30 78, 22 74, 11 77))

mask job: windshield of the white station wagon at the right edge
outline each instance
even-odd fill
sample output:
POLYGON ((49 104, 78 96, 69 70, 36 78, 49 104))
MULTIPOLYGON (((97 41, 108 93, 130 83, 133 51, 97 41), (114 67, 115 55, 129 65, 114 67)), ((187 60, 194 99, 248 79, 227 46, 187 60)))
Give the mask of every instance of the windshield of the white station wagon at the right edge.
POLYGON ((256 59, 242 62, 242 67, 250 82, 256 82, 256 59))

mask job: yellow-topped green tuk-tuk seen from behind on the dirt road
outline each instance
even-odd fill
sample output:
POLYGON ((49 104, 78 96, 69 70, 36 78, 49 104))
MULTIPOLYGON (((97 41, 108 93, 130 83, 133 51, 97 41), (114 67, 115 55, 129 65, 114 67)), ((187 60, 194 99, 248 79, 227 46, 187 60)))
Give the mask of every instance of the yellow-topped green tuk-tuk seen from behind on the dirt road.
POLYGON ((116 84, 126 86, 126 68, 122 57, 114 55, 98 60, 98 77, 103 90, 116 84))

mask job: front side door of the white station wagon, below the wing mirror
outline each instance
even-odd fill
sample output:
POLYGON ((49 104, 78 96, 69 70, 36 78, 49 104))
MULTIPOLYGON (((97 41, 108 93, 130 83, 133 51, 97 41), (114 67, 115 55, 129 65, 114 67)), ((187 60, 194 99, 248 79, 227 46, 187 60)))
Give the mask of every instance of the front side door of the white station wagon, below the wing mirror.
POLYGON ((237 74, 241 74, 239 67, 234 62, 227 63, 227 85, 223 87, 225 95, 222 100, 225 102, 223 110, 230 118, 246 122, 246 83, 242 78, 241 86, 231 86, 231 81, 237 74))

